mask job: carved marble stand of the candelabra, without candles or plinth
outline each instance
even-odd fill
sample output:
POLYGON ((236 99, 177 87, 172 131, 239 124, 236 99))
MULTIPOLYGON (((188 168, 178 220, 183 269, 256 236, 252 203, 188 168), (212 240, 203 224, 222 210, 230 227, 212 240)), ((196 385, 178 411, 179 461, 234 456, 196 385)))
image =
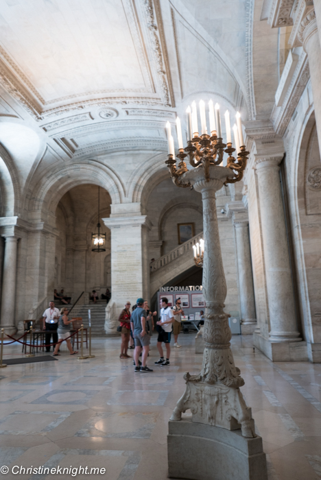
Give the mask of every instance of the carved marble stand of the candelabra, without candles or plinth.
POLYGON ((224 312, 226 280, 219 243, 215 192, 234 173, 227 167, 200 165, 185 173, 184 182, 202 193, 204 220, 203 295, 206 315, 202 371, 185 373, 186 390, 174 409, 171 420, 181 420, 182 412, 191 409, 192 421, 216 425, 228 430, 241 429, 243 437, 255 437, 251 409, 239 390, 244 385, 230 350, 232 334, 229 315, 224 312))

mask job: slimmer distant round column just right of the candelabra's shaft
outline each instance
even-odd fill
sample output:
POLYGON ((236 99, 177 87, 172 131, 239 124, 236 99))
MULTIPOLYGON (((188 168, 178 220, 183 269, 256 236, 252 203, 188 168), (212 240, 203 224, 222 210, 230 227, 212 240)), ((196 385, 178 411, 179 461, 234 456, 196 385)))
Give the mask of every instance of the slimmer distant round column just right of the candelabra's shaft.
POLYGON ((237 272, 239 276, 239 302, 241 307, 241 333, 250 335, 257 327, 254 287, 250 252, 248 219, 234 220, 237 243, 237 272))

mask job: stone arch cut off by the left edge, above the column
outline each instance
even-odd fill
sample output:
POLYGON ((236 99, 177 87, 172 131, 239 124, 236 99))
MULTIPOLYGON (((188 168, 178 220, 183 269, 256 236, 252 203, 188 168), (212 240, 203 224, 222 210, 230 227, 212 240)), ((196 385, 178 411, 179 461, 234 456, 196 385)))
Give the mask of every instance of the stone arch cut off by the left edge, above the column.
POLYGON ((21 205, 21 193, 18 175, 10 154, 0 144, 0 215, 13 217, 18 215, 21 205))

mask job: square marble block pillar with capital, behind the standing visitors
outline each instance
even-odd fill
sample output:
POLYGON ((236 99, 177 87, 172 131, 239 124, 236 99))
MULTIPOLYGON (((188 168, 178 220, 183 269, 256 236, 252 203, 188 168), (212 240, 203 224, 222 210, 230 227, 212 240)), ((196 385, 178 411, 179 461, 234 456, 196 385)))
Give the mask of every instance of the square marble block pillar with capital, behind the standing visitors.
POLYGON ((112 297, 106 313, 106 333, 116 333, 117 318, 126 300, 150 300, 150 258, 146 215, 109 217, 103 219, 110 228, 112 297))

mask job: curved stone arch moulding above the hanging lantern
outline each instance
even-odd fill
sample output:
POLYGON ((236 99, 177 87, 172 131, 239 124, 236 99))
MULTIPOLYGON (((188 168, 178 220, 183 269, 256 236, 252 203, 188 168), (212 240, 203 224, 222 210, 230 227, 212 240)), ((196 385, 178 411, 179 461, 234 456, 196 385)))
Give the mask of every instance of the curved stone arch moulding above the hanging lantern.
POLYGON ((82 184, 95 184, 107 190, 112 203, 121 203, 124 197, 123 185, 118 176, 106 165, 94 160, 78 165, 56 167, 44 182, 40 182, 32 197, 29 211, 44 211, 54 215, 62 196, 73 187, 82 184))

